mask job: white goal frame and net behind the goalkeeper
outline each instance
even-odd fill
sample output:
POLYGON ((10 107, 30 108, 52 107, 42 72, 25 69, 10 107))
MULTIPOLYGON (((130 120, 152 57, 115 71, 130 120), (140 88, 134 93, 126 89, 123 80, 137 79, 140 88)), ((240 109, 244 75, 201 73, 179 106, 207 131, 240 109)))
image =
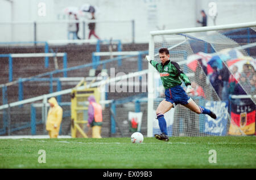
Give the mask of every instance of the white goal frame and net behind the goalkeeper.
MULTIPOLYGON (((164 114, 169 136, 255 134, 255 30, 256 22, 151 32, 150 57, 160 62, 158 50, 168 48, 192 83, 189 96, 217 115, 176 105, 164 114)), ((147 136, 160 133, 155 110, 164 98, 160 75, 148 63, 147 136)))

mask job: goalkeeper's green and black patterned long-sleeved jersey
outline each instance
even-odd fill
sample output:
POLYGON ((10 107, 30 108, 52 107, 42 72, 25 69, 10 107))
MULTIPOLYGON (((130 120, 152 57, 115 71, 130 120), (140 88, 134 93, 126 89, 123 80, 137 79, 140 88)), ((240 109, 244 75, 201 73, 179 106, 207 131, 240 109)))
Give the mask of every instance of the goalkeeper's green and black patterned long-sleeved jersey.
POLYGON ((183 73, 178 63, 170 60, 164 63, 164 65, 154 60, 151 60, 150 63, 160 73, 164 89, 181 85, 181 80, 183 80, 186 86, 191 85, 188 76, 183 73))

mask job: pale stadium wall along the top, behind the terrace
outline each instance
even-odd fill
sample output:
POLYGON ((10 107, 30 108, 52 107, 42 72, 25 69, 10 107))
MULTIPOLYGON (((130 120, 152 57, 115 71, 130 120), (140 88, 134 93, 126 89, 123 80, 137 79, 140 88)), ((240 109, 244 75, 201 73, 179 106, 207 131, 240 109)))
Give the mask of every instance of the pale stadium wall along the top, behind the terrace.
MULTIPOLYGON (((158 29, 177 29, 199 27, 196 23, 197 19, 201 19, 200 10, 204 9, 208 14, 209 2, 217 3, 217 19, 216 24, 232 24, 251 22, 256 20, 254 0, 240 1, 240 0, 88 0, 93 6, 98 7, 99 13, 97 20, 135 20, 135 42, 148 42, 149 32, 158 29), (238 11, 239 10, 239 11, 238 11)), ((67 20, 67 15, 63 14, 63 9, 68 6, 80 7, 85 2, 82 0, 13 0, 0 1, 0 22, 21 22, 21 21, 58 21, 67 20), (46 4, 46 15, 39 15, 39 3, 46 4)), ((80 18, 86 19, 88 17, 80 18)), ((52 31, 52 24, 42 25, 40 32, 37 33, 38 40, 54 39, 57 35, 61 35, 63 39, 67 38, 67 25, 58 25, 60 28, 52 31), (51 36, 49 36, 51 35, 51 36)), ((213 25, 213 20, 208 16, 208 25, 213 25)), ((105 28, 106 24, 98 24, 96 33, 101 38, 109 37, 109 34, 119 28, 131 29, 131 24, 113 23, 110 28, 105 28)), ((0 37, 0 41, 21 41, 24 39, 32 40, 33 27, 29 24, 22 25, 7 25, 1 28, 5 36, 0 37), (23 36, 20 36, 20 32, 23 36), (11 33, 10 33, 11 32, 11 33)), ((38 27, 39 28, 39 27, 38 27)), ((128 32, 130 33, 131 30, 128 32)), ((123 41, 130 41, 127 39, 127 32, 120 33, 118 36, 123 38, 123 41)), ((57 38, 57 37, 56 37, 57 38)))

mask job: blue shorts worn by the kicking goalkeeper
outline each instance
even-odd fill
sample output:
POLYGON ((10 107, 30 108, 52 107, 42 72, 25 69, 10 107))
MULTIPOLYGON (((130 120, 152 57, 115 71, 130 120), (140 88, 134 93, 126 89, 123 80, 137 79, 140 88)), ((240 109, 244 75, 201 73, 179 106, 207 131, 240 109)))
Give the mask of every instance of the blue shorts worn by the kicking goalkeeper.
POLYGON ((177 104, 188 104, 190 97, 185 93, 180 85, 166 89, 166 101, 171 102, 174 106, 177 104))

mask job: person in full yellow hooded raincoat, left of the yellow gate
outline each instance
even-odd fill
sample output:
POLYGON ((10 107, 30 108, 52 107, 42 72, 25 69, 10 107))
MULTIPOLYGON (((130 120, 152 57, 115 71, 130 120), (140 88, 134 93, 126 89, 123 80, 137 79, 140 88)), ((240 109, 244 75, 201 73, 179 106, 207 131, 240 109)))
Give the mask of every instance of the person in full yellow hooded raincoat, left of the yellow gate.
POLYGON ((51 108, 49 109, 46 130, 49 132, 50 138, 57 138, 60 131, 60 123, 62 121, 63 110, 59 106, 55 97, 48 100, 51 108))

